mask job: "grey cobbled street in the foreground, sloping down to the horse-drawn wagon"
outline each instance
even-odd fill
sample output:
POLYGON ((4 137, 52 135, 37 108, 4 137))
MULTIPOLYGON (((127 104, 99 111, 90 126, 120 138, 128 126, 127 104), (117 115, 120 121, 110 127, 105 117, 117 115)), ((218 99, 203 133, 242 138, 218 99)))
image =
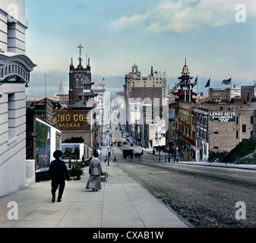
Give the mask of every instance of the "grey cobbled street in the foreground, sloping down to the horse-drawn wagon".
MULTIPOLYGON (((118 131, 113 130, 113 138, 118 131)), ((159 156, 144 152, 141 159, 124 159, 112 147, 118 166, 196 227, 255 227, 256 172, 182 163, 159 163, 159 156), (246 206, 245 219, 237 219, 238 202, 246 206)), ((131 147, 134 152, 141 150, 131 147)))

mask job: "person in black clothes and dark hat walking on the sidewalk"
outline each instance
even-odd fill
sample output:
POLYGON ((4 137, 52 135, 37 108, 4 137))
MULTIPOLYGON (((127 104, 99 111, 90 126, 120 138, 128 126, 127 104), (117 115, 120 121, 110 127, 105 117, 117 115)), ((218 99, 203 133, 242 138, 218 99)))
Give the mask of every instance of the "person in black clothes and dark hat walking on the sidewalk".
POLYGON ((55 202, 55 192, 58 189, 58 202, 62 201, 62 194, 65 188, 65 178, 70 180, 68 169, 65 163, 60 159, 63 155, 62 151, 55 151, 53 156, 55 160, 49 166, 49 176, 52 178, 52 203, 55 202))

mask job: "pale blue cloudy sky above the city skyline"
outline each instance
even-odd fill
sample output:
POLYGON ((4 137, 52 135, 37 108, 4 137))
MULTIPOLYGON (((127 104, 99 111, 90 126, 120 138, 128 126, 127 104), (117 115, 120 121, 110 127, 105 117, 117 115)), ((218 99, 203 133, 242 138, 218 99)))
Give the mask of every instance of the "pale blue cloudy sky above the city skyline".
POLYGON ((29 95, 55 95, 62 79, 68 93, 71 58, 90 58, 93 79, 122 91, 136 63, 143 76, 166 71, 169 87, 178 83, 187 59, 198 90, 256 79, 256 1, 254 0, 26 0, 27 56, 37 65, 29 95), (45 75, 46 74, 46 75, 45 75), (45 83, 46 76, 46 83, 45 83), (47 89, 45 90, 45 84, 47 89))

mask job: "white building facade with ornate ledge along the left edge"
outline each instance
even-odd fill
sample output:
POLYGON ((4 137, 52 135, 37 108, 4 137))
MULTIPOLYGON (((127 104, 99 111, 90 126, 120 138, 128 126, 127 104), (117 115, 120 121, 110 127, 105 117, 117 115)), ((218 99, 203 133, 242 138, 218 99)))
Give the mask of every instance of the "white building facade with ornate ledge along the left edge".
POLYGON ((26 87, 36 66, 25 55, 24 0, 0 3, 0 197, 24 188, 26 163, 26 87))

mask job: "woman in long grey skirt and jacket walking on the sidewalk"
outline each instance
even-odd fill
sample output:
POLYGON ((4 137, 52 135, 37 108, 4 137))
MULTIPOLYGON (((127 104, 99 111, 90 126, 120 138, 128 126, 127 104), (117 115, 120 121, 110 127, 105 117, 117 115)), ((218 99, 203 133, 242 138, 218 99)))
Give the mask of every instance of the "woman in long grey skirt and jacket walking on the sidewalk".
POLYGON ((93 191, 101 190, 101 178, 103 169, 101 168, 99 153, 93 151, 94 158, 90 161, 89 174, 90 177, 87 181, 86 189, 93 189, 93 191))

